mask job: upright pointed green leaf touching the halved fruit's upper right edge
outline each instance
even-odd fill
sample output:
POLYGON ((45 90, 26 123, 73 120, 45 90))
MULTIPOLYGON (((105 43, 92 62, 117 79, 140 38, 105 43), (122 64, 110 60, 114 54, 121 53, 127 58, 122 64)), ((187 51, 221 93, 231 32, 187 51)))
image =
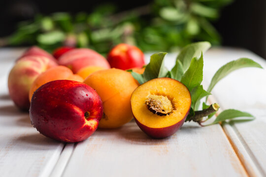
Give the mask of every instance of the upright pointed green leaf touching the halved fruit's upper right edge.
POLYGON ((183 83, 190 91, 199 86, 202 82, 203 77, 203 55, 197 59, 196 57, 192 59, 188 70, 181 78, 181 83, 183 83))

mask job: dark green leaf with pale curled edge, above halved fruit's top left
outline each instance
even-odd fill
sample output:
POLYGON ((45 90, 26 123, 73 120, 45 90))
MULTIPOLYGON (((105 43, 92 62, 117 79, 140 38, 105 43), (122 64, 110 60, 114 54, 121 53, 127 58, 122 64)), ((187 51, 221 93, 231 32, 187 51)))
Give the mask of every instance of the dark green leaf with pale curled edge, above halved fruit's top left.
POLYGON ((164 65, 164 58, 166 54, 167 53, 165 52, 158 52, 151 56, 150 63, 147 64, 143 73, 143 78, 145 82, 155 78, 166 77, 168 73, 168 70, 164 65))

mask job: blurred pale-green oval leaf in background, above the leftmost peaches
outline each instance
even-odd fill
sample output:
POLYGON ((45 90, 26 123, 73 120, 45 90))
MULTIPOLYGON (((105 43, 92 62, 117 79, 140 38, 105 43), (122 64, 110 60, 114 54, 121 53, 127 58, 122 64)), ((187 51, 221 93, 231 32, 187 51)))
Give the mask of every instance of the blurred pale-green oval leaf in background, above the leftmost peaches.
POLYGON ((51 44, 55 44, 57 42, 62 42, 65 40, 65 38, 66 38, 66 36, 65 36, 64 32, 51 31, 51 32, 39 34, 37 36, 37 41, 40 44, 51 45, 51 44))

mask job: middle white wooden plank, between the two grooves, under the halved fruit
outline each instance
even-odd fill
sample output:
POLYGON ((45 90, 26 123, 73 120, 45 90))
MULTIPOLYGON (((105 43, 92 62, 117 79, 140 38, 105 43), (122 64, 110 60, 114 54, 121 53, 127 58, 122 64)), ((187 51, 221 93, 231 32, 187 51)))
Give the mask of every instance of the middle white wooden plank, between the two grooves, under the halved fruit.
MULTIPOLYGON (((147 55, 148 57, 148 55, 147 55)), ((166 56, 173 66, 176 54, 166 56)), ((148 58, 147 58, 148 60, 148 58)), ((114 130, 99 129, 78 143, 64 177, 246 176, 220 125, 185 123, 173 136, 155 140, 131 121, 114 130)))

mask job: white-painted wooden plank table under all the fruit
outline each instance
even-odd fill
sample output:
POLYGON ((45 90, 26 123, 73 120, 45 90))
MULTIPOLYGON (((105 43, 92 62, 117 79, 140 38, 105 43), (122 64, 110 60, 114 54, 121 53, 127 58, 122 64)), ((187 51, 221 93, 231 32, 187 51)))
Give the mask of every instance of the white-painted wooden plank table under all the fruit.
MULTIPOLYGON (((186 122, 162 140, 149 138, 131 121, 63 144, 39 134, 8 96, 8 72, 23 51, 0 49, 0 177, 266 177, 265 69, 235 71, 212 91, 211 100, 222 110, 249 112, 254 121, 207 127, 186 122)), ((168 68, 175 57, 166 56, 168 68)), ((241 57, 266 68, 266 60, 249 51, 212 48, 204 55, 205 87, 220 66, 241 57)))

